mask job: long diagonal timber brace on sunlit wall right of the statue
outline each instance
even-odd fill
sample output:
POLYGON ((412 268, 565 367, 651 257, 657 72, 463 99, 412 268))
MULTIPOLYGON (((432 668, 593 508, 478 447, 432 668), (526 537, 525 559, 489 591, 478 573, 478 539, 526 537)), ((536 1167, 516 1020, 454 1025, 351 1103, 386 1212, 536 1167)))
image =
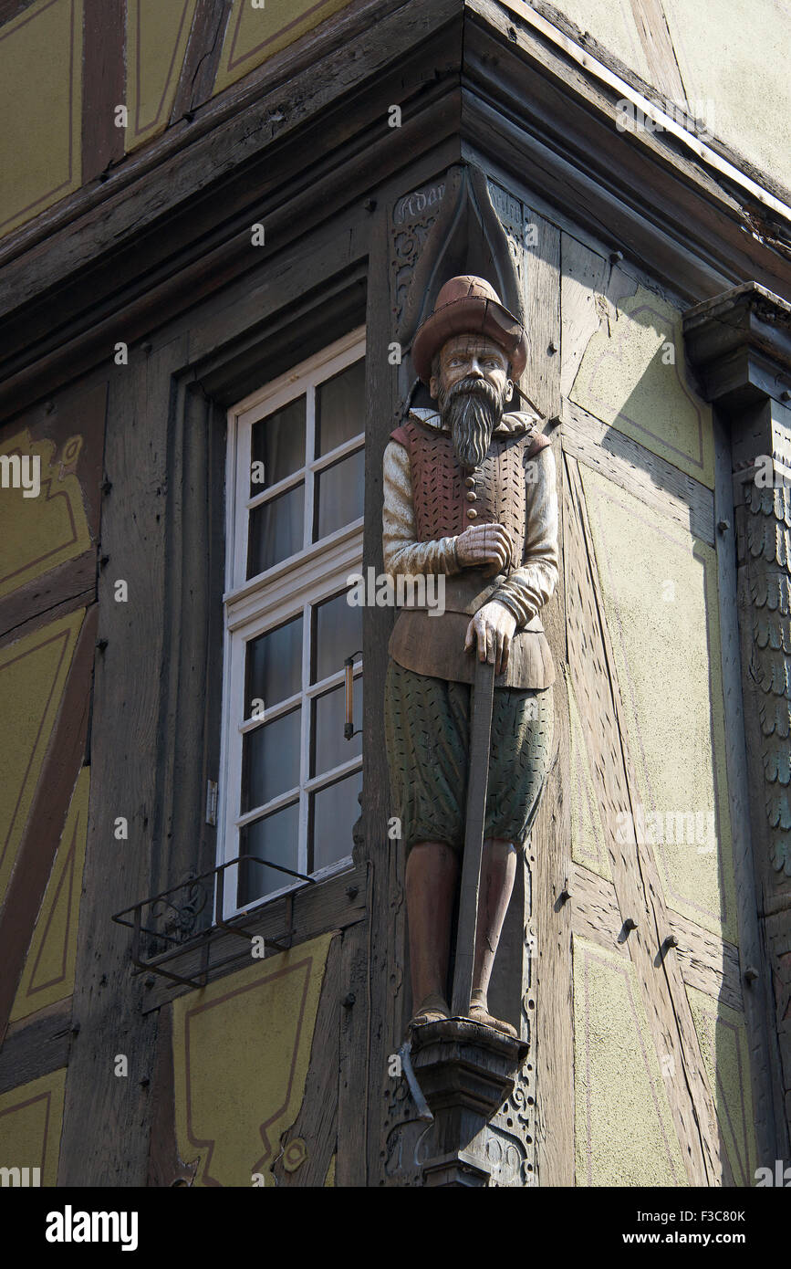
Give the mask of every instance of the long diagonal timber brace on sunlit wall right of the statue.
MULTIPOLYGON (((730 1183, 721 1147, 715 1105, 695 1030, 679 959, 666 939, 672 924, 666 909, 657 867, 650 851, 617 841, 620 815, 633 815, 638 801, 615 659, 610 645, 584 495, 577 463, 565 456, 568 475, 564 515, 568 648, 574 695, 581 714, 591 720, 586 730, 589 769, 597 779, 602 822, 610 825, 610 864, 624 920, 638 929, 627 947, 643 999, 649 1033, 662 1060, 676 1058, 685 1081, 668 1084, 671 1110, 682 1156, 693 1185, 730 1183), (595 720, 595 725, 593 725, 595 720)), ((634 820, 631 821, 634 822, 634 820)))

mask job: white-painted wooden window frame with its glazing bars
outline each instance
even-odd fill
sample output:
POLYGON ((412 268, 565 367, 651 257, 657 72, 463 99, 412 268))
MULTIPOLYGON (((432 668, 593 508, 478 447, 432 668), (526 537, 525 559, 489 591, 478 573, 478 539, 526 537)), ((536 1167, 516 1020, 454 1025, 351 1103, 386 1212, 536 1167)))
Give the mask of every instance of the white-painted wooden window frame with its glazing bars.
MULTIPOLYGON (((365 327, 350 331, 319 353, 293 367, 286 374, 274 379, 266 387, 245 397, 228 411, 228 442, 226 466, 226 579, 229 589, 223 595, 224 647, 223 647, 223 703, 222 740, 219 765, 219 797, 217 816, 217 863, 223 864, 240 854, 240 830, 251 821, 261 819, 261 807, 242 813, 242 742, 246 732, 255 728, 260 720, 243 720, 235 716, 235 702, 245 695, 245 666, 247 643, 274 629, 293 617, 302 614, 302 683, 300 692, 288 700, 278 702, 271 709, 265 709, 266 721, 288 713, 298 700, 302 700, 300 755, 298 802, 299 802, 299 848, 297 871, 307 872, 308 858, 308 811, 311 794, 317 789, 335 783, 344 775, 360 770, 360 755, 350 758, 338 766, 321 775, 305 778, 309 772, 309 746, 312 726, 312 700, 344 683, 344 667, 321 683, 311 683, 311 605, 331 598, 345 589, 350 572, 360 569, 363 561, 363 523, 360 516, 344 525, 318 543, 311 543, 313 528, 313 490, 317 475, 338 459, 360 448, 360 437, 365 429, 351 440, 344 442, 321 458, 311 458, 316 452, 314 433, 316 396, 312 390, 325 379, 332 378, 340 371, 365 357, 365 327), (275 410, 288 405, 295 397, 307 395, 305 409, 305 464, 294 476, 279 481, 261 494, 250 496, 251 435, 252 425, 275 410), (256 577, 247 579, 247 528, 250 513, 256 506, 304 480, 304 533, 303 549, 274 565, 256 577), (308 542, 308 546, 304 546, 308 542)), ((356 652, 350 648, 349 654, 356 652)), ((363 665, 355 659, 355 687, 361 685, 363 665)), ((338 737, 342 744, 342 736, 338 737)), ((283 806, 297 801, 297 787, 264 803, 271 813, 283 806)), ((351 854, 314 872, 317 879, 332 876, 351 867, 351 854)), ((264 895, 243 907, 236 902, 238 868, 227 868, 224 874, 223 920, 271 902, 288 891, 308 884, 298 878, 288 879, 278 891, 264 895)))

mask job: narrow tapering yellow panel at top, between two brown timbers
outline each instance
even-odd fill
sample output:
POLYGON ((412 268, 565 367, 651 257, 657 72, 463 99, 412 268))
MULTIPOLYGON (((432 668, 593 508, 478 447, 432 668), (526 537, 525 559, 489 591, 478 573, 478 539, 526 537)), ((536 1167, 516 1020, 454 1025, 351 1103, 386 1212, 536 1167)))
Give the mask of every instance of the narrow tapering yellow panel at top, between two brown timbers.
POLYGON ((167 127, 198 0, 129 0, 125 148, 167 127))

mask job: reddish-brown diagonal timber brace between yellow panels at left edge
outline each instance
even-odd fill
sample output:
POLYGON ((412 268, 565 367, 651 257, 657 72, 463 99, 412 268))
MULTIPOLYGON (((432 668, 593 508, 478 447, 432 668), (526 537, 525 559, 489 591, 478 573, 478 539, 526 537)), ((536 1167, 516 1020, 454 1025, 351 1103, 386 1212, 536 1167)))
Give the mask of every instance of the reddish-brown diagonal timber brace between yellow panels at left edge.
POLYGON ((95 655, 94 605, 82 621, 63 698, 41 769, 0 921, 0 1043, 33 935, 68 803, 85 758, 95 655))

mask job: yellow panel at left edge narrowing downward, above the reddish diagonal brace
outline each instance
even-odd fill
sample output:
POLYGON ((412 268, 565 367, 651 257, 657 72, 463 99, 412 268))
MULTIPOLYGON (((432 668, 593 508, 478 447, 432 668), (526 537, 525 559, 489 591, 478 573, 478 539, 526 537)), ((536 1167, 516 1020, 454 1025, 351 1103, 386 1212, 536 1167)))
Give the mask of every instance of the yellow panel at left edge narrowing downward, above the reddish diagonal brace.
POLYGON ((0 902, 41 775, 85 609, 0 648, 0 902))

